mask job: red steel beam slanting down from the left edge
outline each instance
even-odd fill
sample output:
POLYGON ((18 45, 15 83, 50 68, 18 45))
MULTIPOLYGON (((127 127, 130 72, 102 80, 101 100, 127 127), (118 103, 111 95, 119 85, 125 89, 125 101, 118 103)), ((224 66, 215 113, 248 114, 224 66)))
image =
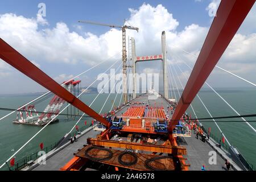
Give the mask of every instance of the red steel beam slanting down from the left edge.
POLYGON ((101 115, 96 113, 96 111, 90 109, 89 106, 87 106, 86 104, 84 104, 84 102, 76 98, 72 93, 68 92, 68 90, 64 89, 61 85, 59 85, 51 77, 46 75, 46 73, 44 73, 34 64, 32 64, 30 61, 28 61, 26 57, 22 56, 18 51, 16 51, 13 47, 11 47, 1 38, 0 58, 6 61, 6 63, 13 66, 14 68, 18 69, 24 75, 38 82, 38 84, 44 86, 44 88, 50 90, 52 93, 63 98, 65 101, 72 104, 77 109, 80 109, 84 113, 88 114, 90 117, 101 122, 107 128, 110 127, 110 123, 106 121, 103 117, 101 117, 101 115))

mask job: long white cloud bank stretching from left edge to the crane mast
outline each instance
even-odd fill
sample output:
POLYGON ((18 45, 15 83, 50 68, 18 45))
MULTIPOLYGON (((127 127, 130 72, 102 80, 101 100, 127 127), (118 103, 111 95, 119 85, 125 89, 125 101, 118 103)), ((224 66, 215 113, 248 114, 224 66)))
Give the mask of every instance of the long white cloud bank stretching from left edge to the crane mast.
POLYGON ((0 15, 0 37, 28 59, 58 63, 93 65, 121 52, 121 32, 113 30, 101 36, 87 32, 85 38, 71 32, 67 24, 39 30, 47 21, 15 14, 0 15))

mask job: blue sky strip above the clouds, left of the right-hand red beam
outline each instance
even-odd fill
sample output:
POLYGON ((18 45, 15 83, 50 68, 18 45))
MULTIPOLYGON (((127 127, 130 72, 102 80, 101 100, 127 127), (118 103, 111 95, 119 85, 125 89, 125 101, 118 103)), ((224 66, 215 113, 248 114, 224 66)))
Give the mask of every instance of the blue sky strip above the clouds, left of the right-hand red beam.
MULTIPOLYGON (((67 1, 67 0, 10 0, 0 2, 0 14, 14 13, 16 15, 23 15, 27 18, 35 17, 38 13, 38 4, 40 2, 46 3, 47 6, 47 20, 51 27, 55 26, 57 22, 65 22, 70 27, 77 24, 77 20, 86 19, 94 20, 96 22, 113 23, 122 25, 123 20, 129 18, 129 8, 138 9, 143 3, 149 3, 151 6, 162 4, 168 9, 174 18, 179 19, 180 26, 178 31, 183 30, 189 24, 197 23, 201 26, 209 26, 209 16, 205 7, 210 3, 209 0, 196 2, 195 0, 180 0, 180 1, 67 1), (188 14, 189 13, 189 14, 188 14)), ((100 35, 108 31, 108 27, 97 27, 90 25, 83 25, 86 31, 91 31, 94 34, 100 35)))

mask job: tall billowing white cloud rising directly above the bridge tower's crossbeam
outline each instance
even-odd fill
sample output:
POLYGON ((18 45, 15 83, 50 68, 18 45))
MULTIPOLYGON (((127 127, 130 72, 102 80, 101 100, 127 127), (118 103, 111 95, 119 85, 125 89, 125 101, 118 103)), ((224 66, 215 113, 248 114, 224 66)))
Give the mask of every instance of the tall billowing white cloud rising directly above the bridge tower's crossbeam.
POLYGON ((138 27, 139 32, 129 30, 136 41, 137 55, 161 53, 161 35, 166 31, 168 38, 175 37, 179 22, 162 6, 143 4, 138 10, 129 9, 131 15, 126 24, 138 27))

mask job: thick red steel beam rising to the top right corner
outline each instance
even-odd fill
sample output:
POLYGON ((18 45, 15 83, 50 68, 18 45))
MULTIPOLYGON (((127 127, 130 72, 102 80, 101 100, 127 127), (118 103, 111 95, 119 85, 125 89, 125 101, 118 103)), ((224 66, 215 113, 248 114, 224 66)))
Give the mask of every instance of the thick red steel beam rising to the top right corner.
POLYGON ((177 125, 177 120, 181 118, 196 97, 251 7, 253 7, 254 2, 255 0, 221 1, 217 16, 213 20, 195 67, 172 116, 173 121, 170 122, 168 129, 170 139, 172 139, 171 134, 177 125))

